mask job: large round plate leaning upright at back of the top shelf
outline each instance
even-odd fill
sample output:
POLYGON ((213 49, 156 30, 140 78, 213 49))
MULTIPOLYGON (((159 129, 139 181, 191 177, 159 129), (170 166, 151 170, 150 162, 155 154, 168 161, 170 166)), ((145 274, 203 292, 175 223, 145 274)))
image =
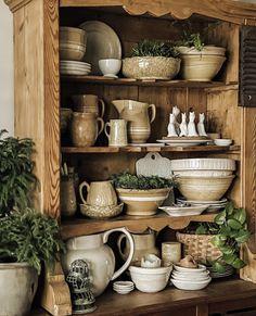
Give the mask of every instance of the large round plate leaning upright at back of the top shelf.
POLYGON ((91 64, 92 75, 102 75, 99 60, 121 59, 120 40, 113 28, 100 21, 87 21, 79 27, 87 31, 84 61, 91 64))

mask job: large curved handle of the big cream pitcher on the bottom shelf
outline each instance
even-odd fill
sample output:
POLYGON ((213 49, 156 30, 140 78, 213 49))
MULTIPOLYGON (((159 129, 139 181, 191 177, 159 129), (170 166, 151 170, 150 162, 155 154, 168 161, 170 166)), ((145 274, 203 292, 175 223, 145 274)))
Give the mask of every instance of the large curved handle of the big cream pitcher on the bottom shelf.
POLYGON ((113 277, 111 279, 112 281, 115 280, 117 277, 119 277, 129 267, 129 265, 131 263, 131 260, 132 260, 132 256, 135 254, 135 241, 133 241, 133 238, 125 227, 114 228, 114 229, 105 231, 104 235, 103 235, 103 242, 106 243, 107 239, 108 239, 108 236, 114 231, 120 231, 120 232, 124 232, 126 235, 127 240, 130 243, 130 252, 129 252, 127 261, 124 263, 124 265, 113 274, 113 277))

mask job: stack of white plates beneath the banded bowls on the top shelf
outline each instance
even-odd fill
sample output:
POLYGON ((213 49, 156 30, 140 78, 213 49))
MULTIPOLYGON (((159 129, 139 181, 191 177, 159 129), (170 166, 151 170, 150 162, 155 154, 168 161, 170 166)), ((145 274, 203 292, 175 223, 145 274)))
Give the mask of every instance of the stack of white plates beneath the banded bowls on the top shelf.
POLYGON ((77 61, 61 61, 62 75, 87 76, 91 72, 91 65, 77 61))

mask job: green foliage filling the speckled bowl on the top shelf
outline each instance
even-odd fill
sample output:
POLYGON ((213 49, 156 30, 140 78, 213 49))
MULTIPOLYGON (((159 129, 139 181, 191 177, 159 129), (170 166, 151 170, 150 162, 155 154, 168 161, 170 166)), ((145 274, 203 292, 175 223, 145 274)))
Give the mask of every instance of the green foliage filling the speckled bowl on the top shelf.
POLYGON ((144 39, 138 42, 131 51, 131 56, 164 56, 179 58, 180 53, 170 41, 144 39))

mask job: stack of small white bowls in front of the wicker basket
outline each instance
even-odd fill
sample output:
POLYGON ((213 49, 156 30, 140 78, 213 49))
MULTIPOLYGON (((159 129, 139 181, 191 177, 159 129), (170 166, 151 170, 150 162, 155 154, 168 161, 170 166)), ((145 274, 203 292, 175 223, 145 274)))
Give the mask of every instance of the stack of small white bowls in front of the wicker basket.
POLYGON ((171 283, 176 288, 190 291, 206 288, 210 280, 209 271, 204 265, 199 265, 197 268, 187 268, 175 265, 170 278, 171 283))

